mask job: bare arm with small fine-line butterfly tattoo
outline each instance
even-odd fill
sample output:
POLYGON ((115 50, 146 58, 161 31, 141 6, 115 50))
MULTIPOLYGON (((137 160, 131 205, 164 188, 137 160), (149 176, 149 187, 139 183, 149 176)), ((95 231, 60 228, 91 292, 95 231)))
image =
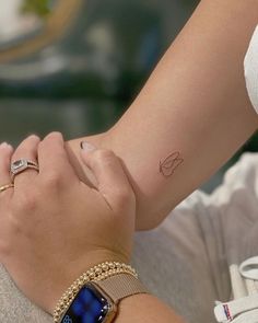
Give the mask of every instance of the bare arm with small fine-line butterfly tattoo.
MULTIPOLYGON (((122 118, 85 140, 118 154, 138 198, 138 229, 156 226, 257 129, 244 57, 256 0, 202 0, 122 118)), ((69 146, 79 154, 80 141, 69 146)))

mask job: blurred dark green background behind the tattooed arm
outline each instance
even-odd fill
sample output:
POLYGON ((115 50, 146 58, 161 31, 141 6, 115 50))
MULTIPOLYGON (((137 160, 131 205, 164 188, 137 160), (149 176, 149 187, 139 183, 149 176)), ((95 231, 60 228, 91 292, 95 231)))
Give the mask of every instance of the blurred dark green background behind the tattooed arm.
MULTIPOLYGON (((104 131, 130 105, 197 0, 0 3, 0 141, 104 131)), ((255 136, 203 189, 245 151, 255 136)))

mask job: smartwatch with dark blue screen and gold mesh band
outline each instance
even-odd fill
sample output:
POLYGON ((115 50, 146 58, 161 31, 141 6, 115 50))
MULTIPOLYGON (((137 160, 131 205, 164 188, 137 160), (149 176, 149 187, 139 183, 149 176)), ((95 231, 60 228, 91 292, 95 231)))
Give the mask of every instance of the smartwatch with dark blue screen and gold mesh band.
POLYGON ((130 274, 118 274, 84 285, 62 314, 60 323, 110 323, 121 299, 148 293, 141 281, 130 274))

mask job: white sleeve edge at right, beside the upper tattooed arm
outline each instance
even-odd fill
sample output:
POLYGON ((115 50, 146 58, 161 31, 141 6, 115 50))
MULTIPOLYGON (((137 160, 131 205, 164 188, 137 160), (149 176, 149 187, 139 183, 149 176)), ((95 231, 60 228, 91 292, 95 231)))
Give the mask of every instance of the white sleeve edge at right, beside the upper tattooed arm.
POLYGON ((258 26, 251 37, 244 66, 247 91, 258 113, 258 26))

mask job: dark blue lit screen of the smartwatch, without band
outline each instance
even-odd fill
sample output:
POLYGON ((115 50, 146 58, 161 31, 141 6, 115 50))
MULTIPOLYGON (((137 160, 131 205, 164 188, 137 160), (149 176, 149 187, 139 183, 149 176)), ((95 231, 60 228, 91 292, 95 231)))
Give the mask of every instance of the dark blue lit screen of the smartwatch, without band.
POLYGON ((112 305, 93 286, 83 287, 70 308, 63 315, 61 323, 102 323, 106 322, 112 305))

